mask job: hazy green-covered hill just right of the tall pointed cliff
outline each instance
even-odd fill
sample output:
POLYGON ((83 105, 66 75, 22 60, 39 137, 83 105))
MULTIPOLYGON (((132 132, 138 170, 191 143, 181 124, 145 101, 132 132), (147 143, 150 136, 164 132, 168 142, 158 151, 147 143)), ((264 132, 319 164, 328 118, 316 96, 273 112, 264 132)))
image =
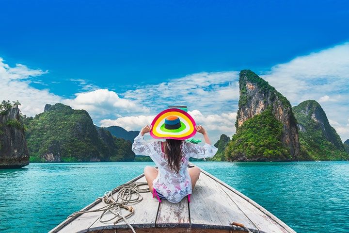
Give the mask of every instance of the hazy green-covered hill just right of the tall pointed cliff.
POLYGON ((301 159, 349 159, 339 135, 317 101, 303 101, 293 107, 293 112, 299 124, 301 159))

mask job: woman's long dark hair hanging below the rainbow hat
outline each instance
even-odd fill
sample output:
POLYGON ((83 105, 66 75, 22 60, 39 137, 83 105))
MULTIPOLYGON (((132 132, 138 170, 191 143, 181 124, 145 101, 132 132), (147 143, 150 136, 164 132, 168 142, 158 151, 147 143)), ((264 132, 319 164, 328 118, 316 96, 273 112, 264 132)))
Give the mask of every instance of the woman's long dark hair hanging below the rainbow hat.
POLYGON ((183 140, 166 139, 164 152, 167 156, 169 166, 176 173, 178 173, 182 161, 182 141, 183 140))

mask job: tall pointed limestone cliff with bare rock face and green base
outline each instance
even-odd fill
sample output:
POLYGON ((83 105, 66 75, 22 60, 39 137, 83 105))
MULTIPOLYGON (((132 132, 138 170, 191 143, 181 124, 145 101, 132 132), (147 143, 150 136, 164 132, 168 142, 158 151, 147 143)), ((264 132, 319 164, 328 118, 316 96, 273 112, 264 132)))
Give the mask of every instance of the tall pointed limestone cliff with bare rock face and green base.
POLYGON ((239 88, 237 133, 225 150, 226 157, 237 161, 296 160, 299 133, 289 101, 251 70, 240 72, 239 88))

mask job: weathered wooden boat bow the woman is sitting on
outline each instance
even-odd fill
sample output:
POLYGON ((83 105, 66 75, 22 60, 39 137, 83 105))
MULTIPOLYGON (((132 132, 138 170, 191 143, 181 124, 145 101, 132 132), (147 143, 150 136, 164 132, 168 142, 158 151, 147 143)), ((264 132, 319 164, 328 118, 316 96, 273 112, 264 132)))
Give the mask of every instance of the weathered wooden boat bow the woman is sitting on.
MULTIPOLYGON (((150 192, 133 204, 135 212, 127 222, 137 233, 295 233, 289 226, 253 200, 201 169, 191 200, 159 202, 150 192), (232 224, 234 223, 234 224, 232 224)), ((130 182, 145 182, 144 174, 130 182)), ((116 195, 116 194, 113 194, 116 195)), ((96 200, 83 210, 105 205, 96 200)), ((99 221, 100 212, 69 217, 50 233, 130 233, 125 221, 99 221)))

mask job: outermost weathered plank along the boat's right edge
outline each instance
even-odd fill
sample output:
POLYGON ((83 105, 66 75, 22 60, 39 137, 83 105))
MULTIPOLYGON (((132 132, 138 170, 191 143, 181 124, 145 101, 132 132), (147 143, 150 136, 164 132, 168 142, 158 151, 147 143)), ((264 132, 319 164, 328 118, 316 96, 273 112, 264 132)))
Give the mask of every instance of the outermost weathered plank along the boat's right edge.
MULTIPOLYGON (((268 219, 269 222, 273 222, 273 225, 276 224, 277 226, 280 226, 281 231, 278 232, 287 232, 287 233, 296 233, 292 228, 290 228, 288 225, 286 225, 286 223, 284 223, 283 221, 281 221, 279 218, 277 218, 276 216, 274 216, 273 214, 271 214, 268 210, 266 210, 265 208, 263 208, 262 206, 260 206, 258 203, 256 203, 254 200, 246 197, 245 195, 243 195, 242 193, 240 193, 238 190, 232 188, 230 185, 222 182, 221 180, 219 180, 217 177, 211 175, 210 173, 206 172, 205 170, 201 169, 202 173, 206 174, 207 176, 209 176, 211 179, 217 181, 218 183, 220 183, 222 185, 222 187, 224 188, 223 190, 225 192, 227 192, 227 194, 229 196, 232 197, 232 199, 236 200, 237 205, 239 205, 239 203, 241 204, 241 202, 243 203, 241 207, 241 209, 245 212, 245 214, 247 216, 251 216, 251 218, 257 216, 257 213, 262 213, 260 216, 262 216, 265 219, 268 219), (227 190, 229 190, 230 192, 228 192, 227 190), (234 193, 236 196, 232 195, 232 193, 234 193), (243 202, 245 201, 245 202, 243 202), (249 205, 247 204, 249 203, 249 205), (248 207, 248 208, 245 208, 248 207), (255 209, 251 209, 252 207, 254 207, 255 209), (257 211, 257 210, 258 211, 257 211)), ((254 219, 256 222, 255 224, 258 226, 259 221, 260 220, 256 220, 254 219)), ((267 231, 268 232, 268 231, 267 231)))

